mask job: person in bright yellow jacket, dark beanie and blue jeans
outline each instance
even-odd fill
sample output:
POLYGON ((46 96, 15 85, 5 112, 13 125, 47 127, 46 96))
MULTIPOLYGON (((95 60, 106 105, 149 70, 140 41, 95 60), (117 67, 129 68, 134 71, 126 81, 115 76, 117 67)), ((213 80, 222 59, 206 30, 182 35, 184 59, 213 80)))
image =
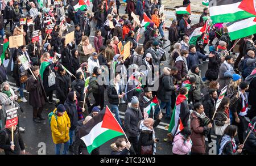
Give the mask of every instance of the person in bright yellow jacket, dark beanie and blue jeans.
POLYGON ((71 123, 63 104, 53 110, 51 118, 52 139, 55 144, 55 154, 60 155, 61 144, 64 143, 63 155, 68 155, 69 128, 71 123), (57 118, 57 119, 56 119, 57 118))

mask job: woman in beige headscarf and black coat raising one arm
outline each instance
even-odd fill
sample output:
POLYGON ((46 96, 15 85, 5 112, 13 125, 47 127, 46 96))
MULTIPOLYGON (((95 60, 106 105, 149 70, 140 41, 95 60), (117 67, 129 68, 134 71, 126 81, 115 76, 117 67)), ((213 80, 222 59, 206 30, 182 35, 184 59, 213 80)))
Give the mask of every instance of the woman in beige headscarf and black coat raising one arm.
POLYGON ((155 155, 156 154, 156 143, 159 142, 159 139, 155 137, 154 127, 158 126, 163 115, 159 114, 158 119, 154 122, 152 118, 146 118, 146 120, 142 121, 139 125, 139 130, 141 130, 141 134, 139 135, 138 142, 138 151, 139 154, 144 155, 142 151, 143 146, 151 146, 152 154, 147 155, 155 155))

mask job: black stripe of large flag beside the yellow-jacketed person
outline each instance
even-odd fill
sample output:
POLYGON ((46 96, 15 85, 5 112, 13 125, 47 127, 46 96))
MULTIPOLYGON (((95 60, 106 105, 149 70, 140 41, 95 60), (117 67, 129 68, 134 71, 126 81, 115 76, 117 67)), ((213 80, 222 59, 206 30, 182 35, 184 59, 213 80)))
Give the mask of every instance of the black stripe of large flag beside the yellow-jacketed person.
POLYGON ((89 120, 85 125, 79 127, 78 132, 79 132, 79 138, 84 137, 85 135, 89 134, 90 131, 93 129, 94 126, 96 126, 98 123, 100 123, 105 115, 105 111, 101 110, 97 116, 94 116, 91 120, 89 120))

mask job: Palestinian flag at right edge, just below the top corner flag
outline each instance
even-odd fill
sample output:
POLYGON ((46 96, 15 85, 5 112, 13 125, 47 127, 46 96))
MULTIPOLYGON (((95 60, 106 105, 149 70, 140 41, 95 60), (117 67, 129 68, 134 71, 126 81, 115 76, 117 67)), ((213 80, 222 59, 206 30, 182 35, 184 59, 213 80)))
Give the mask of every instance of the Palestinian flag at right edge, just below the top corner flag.
POLYGON ((227 24, 231 40, 241 39, 256 33, 256 17, 227 24))

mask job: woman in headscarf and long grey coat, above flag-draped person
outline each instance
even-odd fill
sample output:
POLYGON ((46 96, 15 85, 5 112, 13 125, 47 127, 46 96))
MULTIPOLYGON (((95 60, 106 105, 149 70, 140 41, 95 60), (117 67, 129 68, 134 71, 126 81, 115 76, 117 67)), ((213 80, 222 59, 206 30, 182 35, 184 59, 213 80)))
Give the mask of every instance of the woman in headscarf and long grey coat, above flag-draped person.
POLYGON ((201 87, 204 87, 204 82, 201 78, 201 70, 199 70, 199 66, 198 65, 192 66, 192 68, 188 71, 188 76, 196 78, 196 84, 195 84, 196 90, 193 91, 193 96, 194 96, 195 103, 197 103, 202 100, 201 87))

